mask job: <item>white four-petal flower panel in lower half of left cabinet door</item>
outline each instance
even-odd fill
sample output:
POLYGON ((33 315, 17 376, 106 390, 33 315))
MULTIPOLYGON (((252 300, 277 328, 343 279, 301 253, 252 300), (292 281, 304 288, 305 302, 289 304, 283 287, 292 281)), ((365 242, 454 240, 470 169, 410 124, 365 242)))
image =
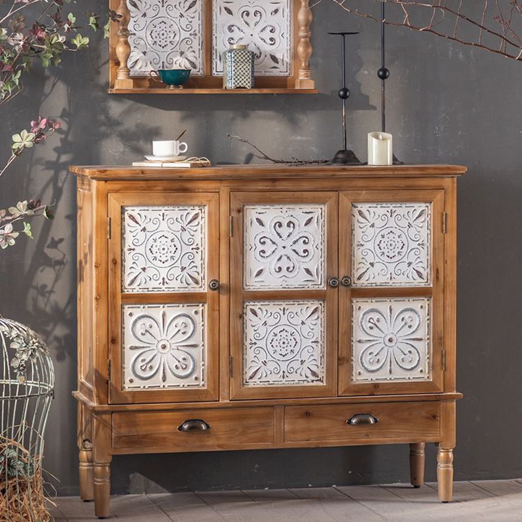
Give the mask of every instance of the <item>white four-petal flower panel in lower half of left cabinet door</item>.
POLYGON ((205 387, 205 304, 122 306, 122 388, 205 387))

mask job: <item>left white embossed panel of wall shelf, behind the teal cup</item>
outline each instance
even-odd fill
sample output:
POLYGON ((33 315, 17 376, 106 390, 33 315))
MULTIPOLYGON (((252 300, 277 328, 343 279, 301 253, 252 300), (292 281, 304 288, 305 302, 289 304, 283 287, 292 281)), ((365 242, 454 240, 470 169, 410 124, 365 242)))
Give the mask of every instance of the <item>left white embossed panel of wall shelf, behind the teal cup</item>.
POLYGON ((191 69, 203 76, 204 0, 127 0, 131 76, 191 69))

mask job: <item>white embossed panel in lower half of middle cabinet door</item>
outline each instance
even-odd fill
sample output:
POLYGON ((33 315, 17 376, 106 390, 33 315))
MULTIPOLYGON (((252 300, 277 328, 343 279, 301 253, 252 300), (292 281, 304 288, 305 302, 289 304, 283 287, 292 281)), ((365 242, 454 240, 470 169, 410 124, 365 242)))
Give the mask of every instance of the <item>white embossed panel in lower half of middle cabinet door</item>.
POLYGON ((324 383, 324 302, 244 303, 245 386, 324 383))

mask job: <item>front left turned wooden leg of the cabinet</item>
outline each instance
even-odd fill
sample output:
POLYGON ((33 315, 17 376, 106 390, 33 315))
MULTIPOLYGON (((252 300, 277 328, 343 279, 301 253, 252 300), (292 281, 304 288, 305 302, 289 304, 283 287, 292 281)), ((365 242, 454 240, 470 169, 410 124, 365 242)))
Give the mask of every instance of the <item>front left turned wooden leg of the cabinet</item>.
POLYGON ((94 434, 94 513, 99 519, 109 516, 111 495, 111 415, 95 413, 94 434))

